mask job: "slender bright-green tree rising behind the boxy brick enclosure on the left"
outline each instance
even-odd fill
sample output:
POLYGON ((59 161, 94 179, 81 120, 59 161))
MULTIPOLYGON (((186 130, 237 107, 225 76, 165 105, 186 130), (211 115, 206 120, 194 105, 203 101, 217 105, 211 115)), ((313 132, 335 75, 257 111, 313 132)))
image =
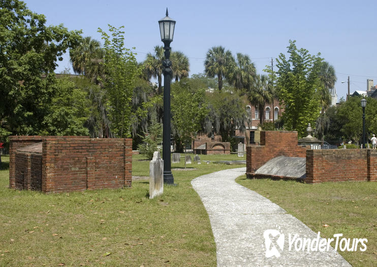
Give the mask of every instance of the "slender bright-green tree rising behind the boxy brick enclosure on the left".
POLYGON ((110 36, 102 31, 104 40, 104 66, 107 73, 104 88, 111 130, 118 138, 131 136, 131 100, 135 81, 139 77, 135 54, 124 47, 124 32, 109 25, 110 36))

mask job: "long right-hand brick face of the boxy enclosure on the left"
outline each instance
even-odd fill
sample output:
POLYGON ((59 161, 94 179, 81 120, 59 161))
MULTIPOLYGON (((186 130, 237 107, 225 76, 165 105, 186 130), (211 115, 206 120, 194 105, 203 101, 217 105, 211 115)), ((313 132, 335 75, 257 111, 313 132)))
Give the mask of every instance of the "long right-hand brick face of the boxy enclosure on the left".
POLYGON ((132 139, 46 138, 42 191, 131 187, 132 139))

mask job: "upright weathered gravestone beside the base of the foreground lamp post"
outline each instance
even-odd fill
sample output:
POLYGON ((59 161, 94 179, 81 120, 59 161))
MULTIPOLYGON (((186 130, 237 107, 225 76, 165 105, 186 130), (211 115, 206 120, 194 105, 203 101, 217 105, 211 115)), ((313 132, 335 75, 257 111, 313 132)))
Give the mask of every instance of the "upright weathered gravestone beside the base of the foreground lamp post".
POLYGON ((164 160, 160 152, 153 153, 153 159, 149 162, 149 198, 164 193, 164 160))

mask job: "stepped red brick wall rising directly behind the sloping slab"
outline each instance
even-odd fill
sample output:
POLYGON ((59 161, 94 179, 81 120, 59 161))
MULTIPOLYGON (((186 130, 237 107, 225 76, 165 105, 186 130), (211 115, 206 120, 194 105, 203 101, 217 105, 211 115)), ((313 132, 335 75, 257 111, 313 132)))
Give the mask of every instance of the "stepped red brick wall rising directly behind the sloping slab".
POLYGON ((261 145, 246 146, 246 173, 278 156, 305 158, 307 147, 297 143, 296 131, 261 131, 261 145))

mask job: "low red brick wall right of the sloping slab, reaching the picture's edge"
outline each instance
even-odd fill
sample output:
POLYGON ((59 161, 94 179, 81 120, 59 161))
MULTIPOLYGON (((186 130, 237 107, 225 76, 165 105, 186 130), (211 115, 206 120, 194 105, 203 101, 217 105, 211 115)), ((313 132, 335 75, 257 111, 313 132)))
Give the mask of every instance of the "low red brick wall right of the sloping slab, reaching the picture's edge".
POLYGON ((305 183, 376 181, 377 151, 308 150, 305 183))

